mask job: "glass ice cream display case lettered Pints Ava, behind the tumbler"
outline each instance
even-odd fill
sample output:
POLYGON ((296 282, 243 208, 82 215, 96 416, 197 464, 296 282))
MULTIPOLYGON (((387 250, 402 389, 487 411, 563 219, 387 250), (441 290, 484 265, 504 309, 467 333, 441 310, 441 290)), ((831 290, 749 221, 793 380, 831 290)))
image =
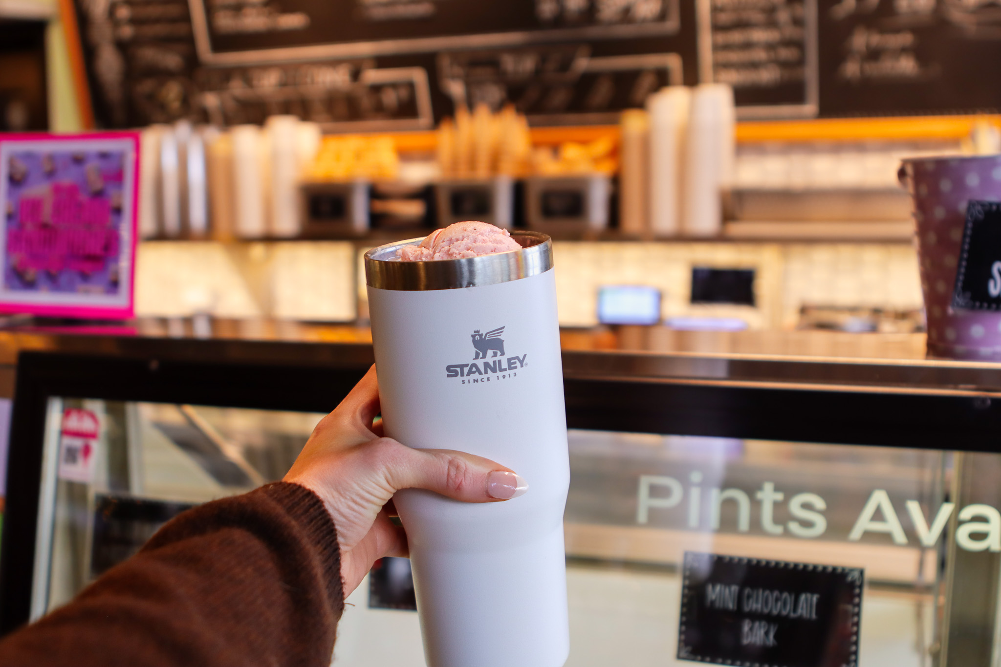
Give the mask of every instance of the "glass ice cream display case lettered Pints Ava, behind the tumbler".
MULTIPOLYGON (((364 342, 29 338, 5 633, 185 508, 280 479, 372 360, 364 342)), ((927 359, 920 335, 563 339, 568 665, 996 661, 1001 366, 927 359)), ((407 561, 348 602, 333 665, 424 664, 407 561)))

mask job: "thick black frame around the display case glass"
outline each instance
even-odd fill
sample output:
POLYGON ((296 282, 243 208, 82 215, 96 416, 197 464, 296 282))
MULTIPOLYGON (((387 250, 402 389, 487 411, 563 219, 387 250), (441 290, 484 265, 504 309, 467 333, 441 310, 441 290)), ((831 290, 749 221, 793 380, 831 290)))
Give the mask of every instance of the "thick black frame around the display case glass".
MULTIPOLYGON (((361 378, 369 361, 370 354, 358 355, 354 364, 331 364, 304 358, 275 363, 209 361, 204 356, 21 353, 0 546, 0 635, 27 622, 30 614, 50 398, 326 412, 361 378)), ((565 388, 570 428, 1001 451, 1001 399, 989 395, 621 377, 569 377, 565 388)))

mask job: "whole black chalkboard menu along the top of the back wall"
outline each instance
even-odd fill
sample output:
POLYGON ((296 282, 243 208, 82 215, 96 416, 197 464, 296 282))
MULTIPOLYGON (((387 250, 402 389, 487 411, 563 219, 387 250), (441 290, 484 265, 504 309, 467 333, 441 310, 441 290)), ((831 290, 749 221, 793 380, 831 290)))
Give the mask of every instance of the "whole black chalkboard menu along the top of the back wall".
POLYGON ((667 84, 742 118, 1001 109, 1001 10, 946 0, 74 0, 104 127, 292 113, 426 129, 458 104, 616 122, 667 84), (997 70, 997 72, 995 72, 997 70))

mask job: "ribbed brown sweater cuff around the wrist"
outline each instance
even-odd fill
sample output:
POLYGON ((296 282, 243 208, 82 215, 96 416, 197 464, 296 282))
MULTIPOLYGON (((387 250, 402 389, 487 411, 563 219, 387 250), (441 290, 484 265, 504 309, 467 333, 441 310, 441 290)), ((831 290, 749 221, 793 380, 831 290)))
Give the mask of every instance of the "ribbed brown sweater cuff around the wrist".
POLYGON ((323 501, 315 493, 299 484, 275 482, 258 489, 259 493, 281 505, 288 516, 305 533, 306 539, 316 547, 319 566, 327 593, 339 618, 344 610, 344 586, 340 578, 340 544, 337 528, 323 501))

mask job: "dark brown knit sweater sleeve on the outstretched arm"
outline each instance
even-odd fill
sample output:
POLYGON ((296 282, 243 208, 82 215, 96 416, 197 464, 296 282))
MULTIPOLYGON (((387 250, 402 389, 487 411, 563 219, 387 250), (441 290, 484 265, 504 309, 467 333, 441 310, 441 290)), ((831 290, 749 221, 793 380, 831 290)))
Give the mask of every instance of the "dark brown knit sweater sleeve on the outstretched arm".
POLYGON ((269 484, 179 515, 72 602, 0 642, 0 665, 329 665, 344 606, 333 521, 269 484))

